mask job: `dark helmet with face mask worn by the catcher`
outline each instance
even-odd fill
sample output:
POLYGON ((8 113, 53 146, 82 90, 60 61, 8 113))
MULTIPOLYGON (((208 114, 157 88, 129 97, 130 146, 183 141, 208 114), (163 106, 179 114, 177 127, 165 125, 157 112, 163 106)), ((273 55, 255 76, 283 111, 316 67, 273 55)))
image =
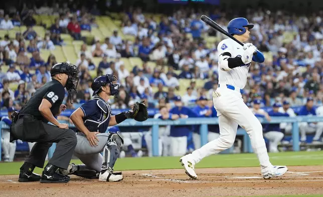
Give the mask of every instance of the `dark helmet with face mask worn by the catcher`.
POLYGON ((94 79, 94 81, 92 82, 92 85, 91 85, 91 88, 93 90, 92 96, 99 93, 99 91, 101 90, 101 88, 103 86, 110 84, 111 95, 118 97, 119 85, 112 83, 115 80, 117 80, 117 77, 115 77, 112 74, 101 75, 101 76, 97 77, 96 79, 94 79))

